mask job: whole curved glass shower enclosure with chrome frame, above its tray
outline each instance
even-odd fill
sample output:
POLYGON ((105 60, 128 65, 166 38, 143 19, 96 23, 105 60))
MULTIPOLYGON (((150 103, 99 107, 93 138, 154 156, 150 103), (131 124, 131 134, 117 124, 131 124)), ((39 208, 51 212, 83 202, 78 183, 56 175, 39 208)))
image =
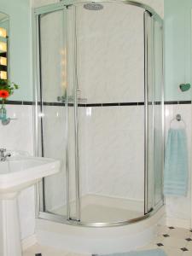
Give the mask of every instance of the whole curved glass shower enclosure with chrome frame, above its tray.
POLYGON ((135 1, 35 9, 38 217, 131 224, 163 205, 163 23, 135 1))

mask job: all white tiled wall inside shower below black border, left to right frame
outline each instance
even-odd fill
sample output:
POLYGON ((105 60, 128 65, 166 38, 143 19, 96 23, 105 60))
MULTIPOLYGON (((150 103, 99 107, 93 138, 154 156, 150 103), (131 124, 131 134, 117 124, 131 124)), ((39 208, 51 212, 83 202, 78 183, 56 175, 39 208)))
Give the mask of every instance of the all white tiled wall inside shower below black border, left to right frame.
MULTIPOLYGON (((143 115, 143 106, 79 108, 81 195, 108 195, 143 201, 143 115)), ((69 108, 72 200, 75 198, 73 119, 73 108, 69 108)), ((44 155, 62 161, 62 172, 44 181, 49 211, 66 203, 65 122, 65 108, 44 106, 44 155)))

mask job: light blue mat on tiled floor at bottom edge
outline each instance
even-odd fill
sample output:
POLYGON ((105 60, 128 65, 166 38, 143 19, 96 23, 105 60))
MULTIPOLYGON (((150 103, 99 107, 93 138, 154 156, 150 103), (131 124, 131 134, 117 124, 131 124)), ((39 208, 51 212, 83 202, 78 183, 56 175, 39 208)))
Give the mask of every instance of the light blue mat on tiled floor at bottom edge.
MULTIPOLYGON (((96 254, 97 255, 97 254, 96 254)), ((166 256, 166 253, 160 249, 148 250, 148 251, 137 251, 130 253, 112 253, 98 256, 166 256)))

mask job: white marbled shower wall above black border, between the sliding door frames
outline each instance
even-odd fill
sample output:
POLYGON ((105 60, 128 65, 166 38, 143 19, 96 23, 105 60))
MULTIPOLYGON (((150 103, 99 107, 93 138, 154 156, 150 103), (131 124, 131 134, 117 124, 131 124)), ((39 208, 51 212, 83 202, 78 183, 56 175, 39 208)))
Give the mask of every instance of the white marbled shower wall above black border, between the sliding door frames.
POLYGON ((104 3, 91 12, 79 6, 77 24, 81 95, 91 103, 143 102, 143 9, 104 3))

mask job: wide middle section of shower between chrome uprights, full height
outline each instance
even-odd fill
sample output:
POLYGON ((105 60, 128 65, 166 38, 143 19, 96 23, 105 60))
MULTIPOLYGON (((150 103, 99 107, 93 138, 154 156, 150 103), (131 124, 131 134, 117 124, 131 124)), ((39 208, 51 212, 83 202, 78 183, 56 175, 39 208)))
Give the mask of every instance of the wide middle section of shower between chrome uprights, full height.
POLYGON ((141 217, 144 205, 143 9, 102 7, 76 6, 81 221, 90 223, 141 217))

